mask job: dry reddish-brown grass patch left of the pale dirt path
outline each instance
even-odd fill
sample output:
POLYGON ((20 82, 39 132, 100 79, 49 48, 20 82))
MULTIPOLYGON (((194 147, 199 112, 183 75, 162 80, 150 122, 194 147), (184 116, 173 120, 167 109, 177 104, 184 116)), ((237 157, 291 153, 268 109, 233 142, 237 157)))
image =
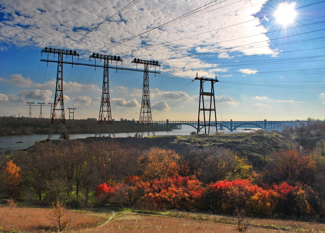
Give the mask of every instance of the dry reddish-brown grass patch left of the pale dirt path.
MULTIPOLYGON (((46 218, 49 216, 50 209, 42 208, 11 208, 8 206, 0 207, 0 231, 50 231, 53 228, 51 221, 46 218)), ((103 215, 95 215, 85 212, 71 212, 75 215, 70 225, 72 229, 96 226, 107 220, 103 215)))

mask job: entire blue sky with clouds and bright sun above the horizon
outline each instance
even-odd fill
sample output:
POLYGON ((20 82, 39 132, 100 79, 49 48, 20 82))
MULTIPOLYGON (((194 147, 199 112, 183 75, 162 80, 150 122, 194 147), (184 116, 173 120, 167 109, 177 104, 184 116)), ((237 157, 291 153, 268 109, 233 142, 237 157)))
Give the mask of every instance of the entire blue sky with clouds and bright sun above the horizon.
MULTIPOLYGON (((0 116, 28 116, 26 102, 53 103, 57 64, 40 62, 47 46, 77 50, 83 63, 93 52, 129 68, 134 58, 158 60, 161 74, 149 75, 153 120, 197 120, 197 72, 220 81, 218 120, 324 119, 324 8, 306 0, 0 0, 0 116), (281 6, 289 7, 282 20, 281 6)), ((102 76, 101 68, 64 65, 66 118, 68 107, 75 118, 98 118, 102 76)), ((139 118, 142 82, 141 72, 110 69, 113 119, 139 118)))

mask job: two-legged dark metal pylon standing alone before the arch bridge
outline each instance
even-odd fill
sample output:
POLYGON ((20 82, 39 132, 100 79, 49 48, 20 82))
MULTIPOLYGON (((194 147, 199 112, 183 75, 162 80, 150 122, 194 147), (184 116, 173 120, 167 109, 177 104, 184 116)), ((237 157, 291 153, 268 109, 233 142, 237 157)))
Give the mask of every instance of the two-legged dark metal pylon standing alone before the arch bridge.
POLYGON ((195 80, 200 80, 200 100, 199 100, 199 116, 198 116, 197 133, 199 133, 201 126, 204 127, 205 134, 210 134, 210 126, 214 126, 216 132, 218 132, 217 116, 215 113, 215 100, 214 100, 214 83, 219 82, 217 79, 217 75, 215 75, 215 78, 204 78, 204 77, 198 77, 198 73, 196 73, 195 80), (211 91, 210 92, 204 91, 203 83, 205 81, 211 82, 211 91), (204 98, 205 96, 207 96, 207 98, 204 98), (202 108, 201 108, 201 100, 202 100, 202 108), (205 102, 207 102, 207 106, 205 105, 205 102), (213 106, 212 106, 212 104, 213 104, 213 106), (201 111, 203 112, 203 120, 204 120, 203 123, 200 122, 200 112, 201 111), (208 114, 206 114, 206 112, 208 112, 208 114), (209 115, 208 121, 206 119, 207 115, 209 115), (214 119, 211 119, 211 117, 214 119), (206 132, 207 126, 208 126, 208 133, 206 132))

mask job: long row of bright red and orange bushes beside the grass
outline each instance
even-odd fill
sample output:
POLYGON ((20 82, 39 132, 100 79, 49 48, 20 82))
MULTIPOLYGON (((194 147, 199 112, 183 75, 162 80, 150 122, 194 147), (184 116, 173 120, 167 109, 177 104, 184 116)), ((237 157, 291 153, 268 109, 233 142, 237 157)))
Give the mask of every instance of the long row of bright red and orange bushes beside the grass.
POLYGON ((272 213, 309 214, 313 209, 308 200, 315 196, 306 185, 291 186, 283 182, 262 188, 248 179, 223 180, 203 188, 195 176, 174 176, 147 182, 138 176, 128 176, 123 184, 99 185, 94 195, 100 202, 142 203, 153 209, 200 208, 231 213, 237 207, 262 216, 272 213), (286 212, 288 209, 290 212, 286 212))

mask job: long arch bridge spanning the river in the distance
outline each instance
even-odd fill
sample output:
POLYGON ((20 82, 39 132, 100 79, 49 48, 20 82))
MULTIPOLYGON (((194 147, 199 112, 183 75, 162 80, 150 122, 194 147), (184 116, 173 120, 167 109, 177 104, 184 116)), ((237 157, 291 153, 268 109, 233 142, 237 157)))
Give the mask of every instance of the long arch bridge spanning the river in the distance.
MULTIPOLYGON (((197 121, 169 121, 168 119, 165 121, 152 121, 153 124, 155 125, 159 125, 161 126, 163 129, 165 129, 166 131, 171 130, 173 127, 178 126, 178 125, 189 125, 192 126, 194 129, 198 130, 198 122, 197 121)), ((202 122, 200 122, 201 125, 202 122)), ((214 125, 215 122, 210 122, 210 124, 214 125)), ((206 121, 206 125, 208 125, 209 122, 206 121)), ((217 121, 216 125, 218 125, 221 128, 227 128, 228 130, 230 130, 230 132, 232 132, 233 130, 236 130, 238 127, 241 126, 246 126, 246 125, 250 125, 250 126, 255 126, 256 128, 260 128, 263 130, 266 129, 271 129, 271 128, 275 128, 280 124, 280 121, 267 121, 267 120, 263 120, 263 121, 217 121)), ((202 126, 199 131, 204 128, 204 126, 202 126)))

